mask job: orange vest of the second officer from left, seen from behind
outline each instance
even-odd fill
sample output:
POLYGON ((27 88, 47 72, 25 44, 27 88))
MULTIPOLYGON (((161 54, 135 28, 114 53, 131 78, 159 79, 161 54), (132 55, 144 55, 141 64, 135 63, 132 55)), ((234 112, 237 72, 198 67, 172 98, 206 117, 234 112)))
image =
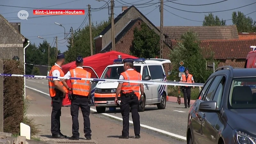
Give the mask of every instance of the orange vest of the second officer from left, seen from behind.
MULTIPOLYGON (((71 77, 79 78, 91 78, 91 73, 82 69, 74 68, 70 70, 71 77)), ((73 94, 88 96, 89 95, 89 83, 87 80, 71 79, 73 94)))

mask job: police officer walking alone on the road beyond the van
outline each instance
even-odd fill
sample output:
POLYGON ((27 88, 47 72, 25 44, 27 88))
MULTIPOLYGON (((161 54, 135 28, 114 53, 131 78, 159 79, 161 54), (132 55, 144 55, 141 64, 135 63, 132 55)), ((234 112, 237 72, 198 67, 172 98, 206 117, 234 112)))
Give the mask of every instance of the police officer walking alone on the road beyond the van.
MULTIPOLYGON (((194 78, 191 74, 188 73, 188 68, 185 69, 185 75, 181 75, 180 82, 186 82, 186 83, 195 83, 194 78)), ((195 86, 193 86, 195 88, 195 86)), ((184 95, 184 104, 185 108, 190 107, 190 94, 191 94, 191 86, 182 86, 182 92, 184 95), (187 105, 187 99, 188 99, 188 105, 187 105)))

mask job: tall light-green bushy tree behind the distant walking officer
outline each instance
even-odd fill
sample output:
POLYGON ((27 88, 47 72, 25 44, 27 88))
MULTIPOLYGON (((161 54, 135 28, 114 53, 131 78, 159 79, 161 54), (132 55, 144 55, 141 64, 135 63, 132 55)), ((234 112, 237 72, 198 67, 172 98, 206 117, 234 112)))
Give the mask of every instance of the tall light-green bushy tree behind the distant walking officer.
POLYGON ((177 46, 174 46, 173 50, 170 52, 173 66, 171 79, 179 80, 179 63, 183 61, 185 63, 184 66, 188 67, 189 72, 193 75, 195 82, 205 83, 212 74, 211 70, 206 70, 206 58, 204 58, 206 54, 209 56, 208 60, 214 61, 212 59, 212 51, 200 47, 200 41, 196 33, 189 30, 183 34, 181 36, 181 42, 178 42, 177 46))

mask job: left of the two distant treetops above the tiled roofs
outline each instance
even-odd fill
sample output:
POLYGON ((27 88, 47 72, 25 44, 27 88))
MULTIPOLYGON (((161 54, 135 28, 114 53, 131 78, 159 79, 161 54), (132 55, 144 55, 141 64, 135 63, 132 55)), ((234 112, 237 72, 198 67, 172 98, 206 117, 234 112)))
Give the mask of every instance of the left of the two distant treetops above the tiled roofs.
POLYGON ((208 16, 204 15, 203 26, 226 26, 226 20, 223 20, 218 16, 213 16, 212 13, 209 13, 208 16))

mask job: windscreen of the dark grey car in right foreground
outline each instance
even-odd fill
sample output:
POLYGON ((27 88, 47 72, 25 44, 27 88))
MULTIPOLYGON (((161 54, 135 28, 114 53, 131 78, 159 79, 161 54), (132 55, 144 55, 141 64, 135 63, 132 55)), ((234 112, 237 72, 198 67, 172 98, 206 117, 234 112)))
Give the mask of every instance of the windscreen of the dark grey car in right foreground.
POLYGON ((233 78, 228 96, 229 109, 256 109, 256 77, 233 78))

